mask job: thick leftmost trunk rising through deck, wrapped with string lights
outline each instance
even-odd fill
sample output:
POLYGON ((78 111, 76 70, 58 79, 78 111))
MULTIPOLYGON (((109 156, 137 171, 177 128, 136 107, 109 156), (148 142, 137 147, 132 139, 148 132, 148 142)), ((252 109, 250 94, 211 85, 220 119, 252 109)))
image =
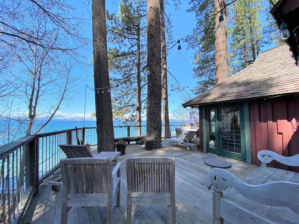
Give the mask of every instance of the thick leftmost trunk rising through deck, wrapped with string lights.
MULTIPOLYGON (((94 88, 109 87, 105 0, 92 0, 94 88)), ((97 151, 115 151, 111 95, 108 88, 95 90, 97 151), (97 93, 99 91, 99 93, 97 93)))

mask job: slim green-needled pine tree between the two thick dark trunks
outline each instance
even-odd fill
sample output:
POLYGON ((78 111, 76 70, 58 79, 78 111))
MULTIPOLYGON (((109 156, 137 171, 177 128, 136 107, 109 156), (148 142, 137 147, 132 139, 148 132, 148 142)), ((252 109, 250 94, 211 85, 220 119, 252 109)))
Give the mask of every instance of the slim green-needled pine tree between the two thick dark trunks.
MULTIPOLYGON (((147 84, 146 10, 142 5, 123 0, 118 14, 106 13, 108 41, 116 45, 108 49, 109 71, 115 74, 111 78, 113 115, 125 122, 136 121, 137 126, 146 105, 147 84)), ((141 135, 140 127, 137 135, 141 135)))

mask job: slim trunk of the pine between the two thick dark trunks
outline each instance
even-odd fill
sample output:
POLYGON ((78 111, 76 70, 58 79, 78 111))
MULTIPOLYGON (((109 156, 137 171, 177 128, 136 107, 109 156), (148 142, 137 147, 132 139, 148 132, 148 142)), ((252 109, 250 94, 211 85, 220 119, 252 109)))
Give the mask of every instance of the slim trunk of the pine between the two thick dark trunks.
POLYGON ((140 23, 138 21, 137 35, 137 104, 136 104, 137 135, 141 135, 141 74, 140 74, 140 23))

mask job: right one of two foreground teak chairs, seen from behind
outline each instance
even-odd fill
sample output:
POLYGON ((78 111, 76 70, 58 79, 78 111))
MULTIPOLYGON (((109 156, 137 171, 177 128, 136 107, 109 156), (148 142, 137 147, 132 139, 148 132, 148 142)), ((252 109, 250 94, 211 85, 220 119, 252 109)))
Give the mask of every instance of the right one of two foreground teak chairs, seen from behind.
POLYGON ((132 205, 171 205, 171 223, 176 223, 175 158, 126 158, 127 223, 131 223, 132 205))

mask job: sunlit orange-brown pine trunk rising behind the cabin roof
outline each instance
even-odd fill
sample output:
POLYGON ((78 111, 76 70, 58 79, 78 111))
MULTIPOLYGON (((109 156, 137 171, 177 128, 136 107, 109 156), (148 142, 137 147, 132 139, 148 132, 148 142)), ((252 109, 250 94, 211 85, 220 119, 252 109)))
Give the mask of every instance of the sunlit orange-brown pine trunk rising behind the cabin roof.
MULTIPOLYGON (((218 12, 225 6, 225 0, 215 1, 215 10, 218 12)), ((218 17, 220 13, 215 16, 216 18, 216 34, 215 34, 215 66, 216 66, 216 85, 223 82, 228 78, 228 47, 227 47, 227 17, 226 9, 223 10, 223 18, 225 27, 221 30, 218 29, 218 17)))

